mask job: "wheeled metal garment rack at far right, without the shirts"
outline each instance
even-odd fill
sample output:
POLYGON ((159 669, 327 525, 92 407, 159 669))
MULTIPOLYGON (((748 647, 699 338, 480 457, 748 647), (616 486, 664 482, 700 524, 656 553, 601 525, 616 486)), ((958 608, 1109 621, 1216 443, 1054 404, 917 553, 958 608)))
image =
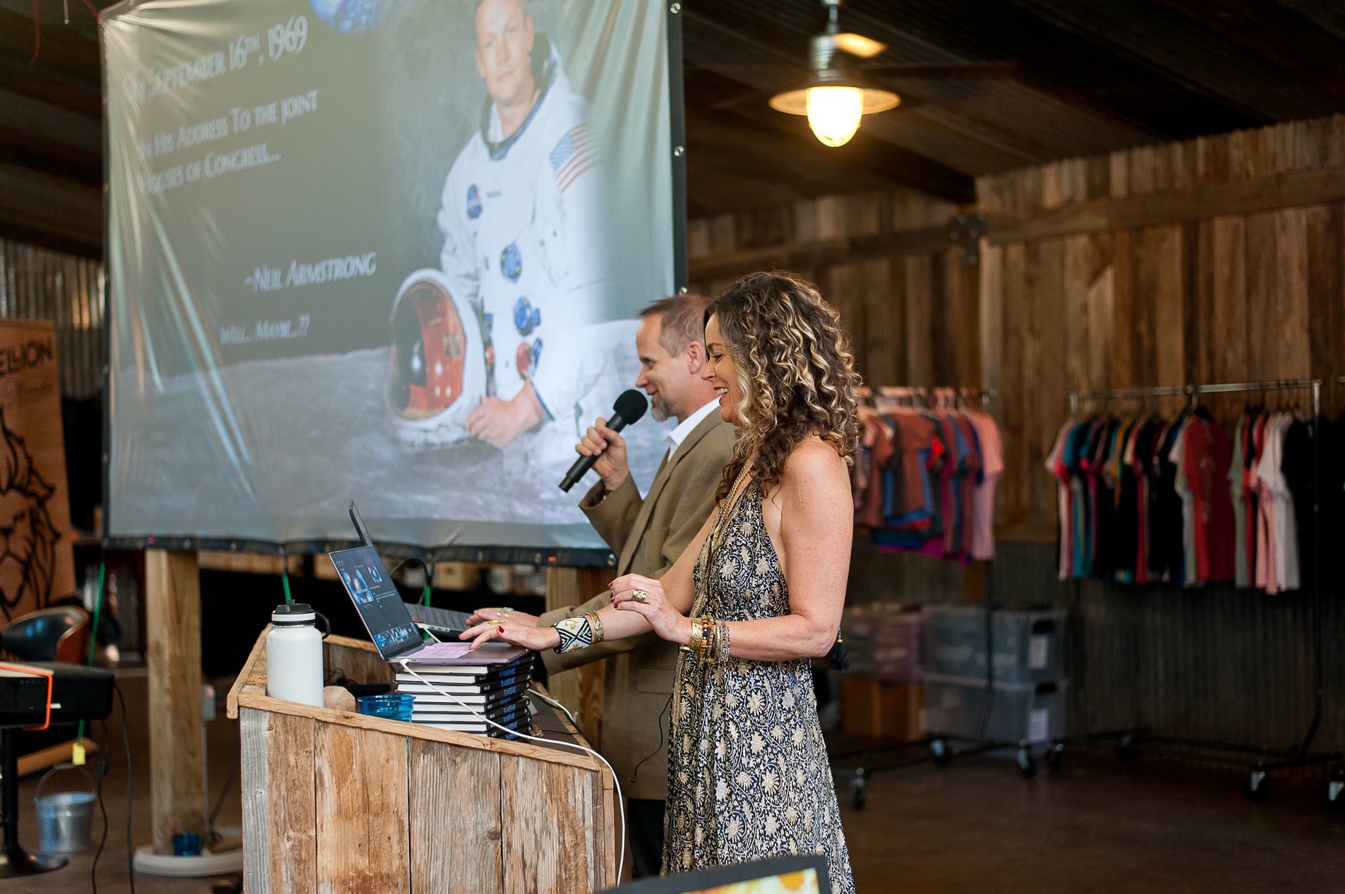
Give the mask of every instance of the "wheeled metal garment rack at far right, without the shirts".
MULTIPOLYGON (((1345 384, 1345 376, 1340 379, 1345 384)), ((1190 409, 1200 405, 1202 394, 1237 394, 1266 391, 1311 390, 1311 419, 1317 423, 1321 415, 1321 379, 1274 379, 1266 382, 1228 382, 1216 384, 1178 384, 1159 386, 1151 389, 1107 389, 1099 391, 1067 391, 1071 417, 1079 415, 1080 402, 1096 399, 1149 399, 1158 397, 1189 397, 1190 409)), ((1313 438, 1313 477, 1321 481, 1322 456, 1321 437, 1313 438)), ((1252 800, 1264 800, 1270 795, 1267 774, 1278 770, 1289 770, 1302 766, 1326 765, 1330 768, 1328 781, 1326 801, 1329 805, 1345 803, 1345 773, 1342 773, 1338 751, 1313 754, 1313 741, 1322 722, 1322 688, 1323 688, 1323 644, 1322 629, 1325 626, 1325 605, 1322 598, 1322 551, 1321 551, 1321 495, 1314 496, 1313 503, 1313 538, 1314 538, 1314 566, 1313 566, 1313 719, 1307 733, 1297 747, 1275 750, 1254 747, 1236 742, 1219 742, 1209 739, 1193 739, 1173 735, 1157 735, 1142 729, 1118 730, 1110 733, 1089 733, 1081 737, 1057 739, 1046 756, 1046 762, 1052 769, 1061 765, 1061 751, 1065 742, 1076 742, 1088 746, 1115 747, 1118 757, 1127 758, 1138 753, 1151 753, 1161 757, 1201 758, 1212 764, 1223 764, 1247 770, 1248 777, 1244 784, 1244 793, 1252 800)), ((1076 579, 1076 598, 1081 581, 1076 579)), ((1080 687, 1081 688, 1081 687, 1080 687)), ((1089 713, 1091 714, 1091 713, 1089 713)))

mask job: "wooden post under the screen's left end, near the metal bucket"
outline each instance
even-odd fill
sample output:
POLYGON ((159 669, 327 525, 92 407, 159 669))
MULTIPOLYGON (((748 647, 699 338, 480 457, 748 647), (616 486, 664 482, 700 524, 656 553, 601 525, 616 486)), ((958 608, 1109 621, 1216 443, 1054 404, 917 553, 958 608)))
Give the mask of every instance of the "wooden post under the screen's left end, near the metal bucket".
POLYGON ((149 784, 153 846, 204 838, 200 749, 200 573, 195 553, 145 550, 149 648, 149 784))

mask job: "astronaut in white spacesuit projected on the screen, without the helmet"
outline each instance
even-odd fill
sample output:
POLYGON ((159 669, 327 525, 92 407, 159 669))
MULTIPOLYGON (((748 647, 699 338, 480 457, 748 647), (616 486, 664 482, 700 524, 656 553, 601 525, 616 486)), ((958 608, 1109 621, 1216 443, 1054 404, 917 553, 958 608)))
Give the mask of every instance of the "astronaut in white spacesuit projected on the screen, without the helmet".
POLYGON ((574 415, 603 374, 580 329, 609 317, 609 241, 596 134, 550 42, 523 0, 482 0, 475 24, 490 99, 444 183, 440 265, 486 344, 467 433, 503 449, 574 415))

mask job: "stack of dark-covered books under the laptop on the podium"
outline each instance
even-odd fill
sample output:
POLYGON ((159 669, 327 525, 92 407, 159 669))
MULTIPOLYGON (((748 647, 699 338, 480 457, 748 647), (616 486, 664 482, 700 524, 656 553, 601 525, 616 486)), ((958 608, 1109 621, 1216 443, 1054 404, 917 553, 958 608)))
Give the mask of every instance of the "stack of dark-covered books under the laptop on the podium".
POLYGON ((397 691, 414 698, 413 723, 515 738, 533 733, 527 683, 535 657, 537 652, 503 644, 468 652, 464 643, 459 656, 412 664, 414 672, 397 671, 397 691))

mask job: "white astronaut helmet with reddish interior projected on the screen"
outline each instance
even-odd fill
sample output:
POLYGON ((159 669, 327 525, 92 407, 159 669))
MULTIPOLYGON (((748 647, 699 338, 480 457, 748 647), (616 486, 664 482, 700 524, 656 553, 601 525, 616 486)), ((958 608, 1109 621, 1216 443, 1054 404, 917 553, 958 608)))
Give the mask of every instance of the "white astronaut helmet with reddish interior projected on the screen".
POLYGON ((471 308, 459 304, 441 272, 417 270, 397 290, 389 327, 386 398, 398 438, 413 448, 465 440, 467 415, 486 387, 471 308))

